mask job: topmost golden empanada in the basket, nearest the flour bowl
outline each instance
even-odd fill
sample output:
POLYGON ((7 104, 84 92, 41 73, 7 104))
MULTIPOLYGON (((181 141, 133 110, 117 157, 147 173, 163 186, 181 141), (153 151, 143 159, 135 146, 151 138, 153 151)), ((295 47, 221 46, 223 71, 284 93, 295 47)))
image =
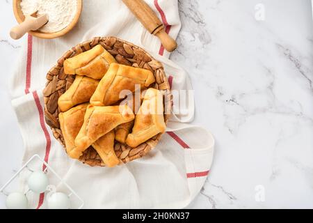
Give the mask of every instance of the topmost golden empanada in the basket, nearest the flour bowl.
POLYGON ((84 75, 93 79, 102 79, 111 63, 116 63, 114 57, 97 45, 93 49, 78 54, 63 63, 67 75, 84 75))

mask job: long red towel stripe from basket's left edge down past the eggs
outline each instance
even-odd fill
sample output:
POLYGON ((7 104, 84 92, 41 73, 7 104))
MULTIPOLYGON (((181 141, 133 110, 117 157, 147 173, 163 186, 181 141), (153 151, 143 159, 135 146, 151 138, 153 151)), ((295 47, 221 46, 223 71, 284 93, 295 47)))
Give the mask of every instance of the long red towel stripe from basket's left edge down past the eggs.
MULTIPOLYGON (((50 137, 50 134, 49 134, 47 127, 45 125, 45 116, 44 116, 42 106, 40 104, 40 99, 39 99, 37 91, 33 91, 33 99, 35 100, 35 104, 36 104, 36 107, 38 109, 40 126, 41 126, 42 131, 44 132, 45 138, 46 138, 45 162, 48 162, 50 149, 51 149, 51 137, 50 137)), ((45 169, 46 169, 46 165, 42 164, 42 171, 44 171, 45 169)), ((45 199, 45 193, 41 193, 39 196, 38 206, 36 209, 38 209, 42 206, 44 199, 45 199)))

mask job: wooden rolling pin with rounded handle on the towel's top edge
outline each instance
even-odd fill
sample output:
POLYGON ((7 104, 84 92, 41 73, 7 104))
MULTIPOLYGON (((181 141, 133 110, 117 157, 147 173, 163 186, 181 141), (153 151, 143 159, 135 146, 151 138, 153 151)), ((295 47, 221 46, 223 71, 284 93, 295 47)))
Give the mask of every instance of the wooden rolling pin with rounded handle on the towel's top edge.
POLYGON ((137 19, 145 26, 145 28, 154 36, 157 36, 168 51, 172 52, 177 48, 176 41, 168 36, 164 31, 164 25, 155 15, 154 11, 143 0, 122 0, 125 5, 131 10, 137 19))

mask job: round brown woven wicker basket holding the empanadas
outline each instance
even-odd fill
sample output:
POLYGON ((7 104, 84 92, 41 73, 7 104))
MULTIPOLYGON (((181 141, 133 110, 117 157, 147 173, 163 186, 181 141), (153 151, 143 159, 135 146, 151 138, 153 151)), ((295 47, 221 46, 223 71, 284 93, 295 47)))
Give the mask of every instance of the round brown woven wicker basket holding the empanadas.
MULTIPOLYGON (((164 93, 164 118, 166 123, 170 116, 172 95, 170 94, 170 85, 168 84, 168 79, 163 70, 162 64, 156 61, 152 56, 150 56, 150 54, 145 52, 140 47, 128 43, 125 40, 120 40, 115 37, 96 37, 92 40, 80 43, 67 51, 61 59, 58 60, 57 65, 51 68, 51 70, 47 73, 47 84, 45 90, 43 91, 45 96, 45 120, 50 126, 54 137, 64 147, 65 142, 60 129, 60 123, 58 121, 58 114, 60 112, 58 109, 58 98, 71 86, 75 77, 74 75, 65 75, 63 62, 65 59, 85 52, 98 44, 101 44, 110 54, 112 54, 118 63, 127 66, 144 68, 154 72, 156 82, 152 84, 151 87, 159 89, 164 93)), ((131 160, 143 157, 151 151, 152 148, 157 145, 160 138, 161 134, 157 134, 155 137, 145 141, 145 143, 136 148, 131 148, 115 141, 114 150, 122 162, 130 162, 131 160)), ((89 164, 90 166, 104 166, 101 158, 91 146, 83 153, 79 160, 83 163, 89 164)))

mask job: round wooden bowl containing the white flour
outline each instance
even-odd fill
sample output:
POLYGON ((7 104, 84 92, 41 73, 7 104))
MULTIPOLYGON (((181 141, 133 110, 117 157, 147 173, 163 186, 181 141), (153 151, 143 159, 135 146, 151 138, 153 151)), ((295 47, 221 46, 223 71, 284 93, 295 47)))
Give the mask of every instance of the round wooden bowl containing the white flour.
MULTIPOLYGON (((15 15, 15 19, 17 20, 18 23, 22 23, 25 20, 24 14, 21 9, 21 1, 22 0, 13 0, 13 12, 15 15)), ((54 33, 45 33, 45 32, 36 30, 36 31, 29 31, 29 34, 38 38, 43 38, 43 39, 53 39, 59 36, 63 36, 69 31, 71 31, 71 29, 73 29, 73 27, 77 24, 79 17, 81 15, 82 8, 83 8, 82 0, 77 0, 77 12, 76 12, 74 19, 67 27, 65 27, 65 29, 62 29, 61 31, 57 31, 54 33)))

